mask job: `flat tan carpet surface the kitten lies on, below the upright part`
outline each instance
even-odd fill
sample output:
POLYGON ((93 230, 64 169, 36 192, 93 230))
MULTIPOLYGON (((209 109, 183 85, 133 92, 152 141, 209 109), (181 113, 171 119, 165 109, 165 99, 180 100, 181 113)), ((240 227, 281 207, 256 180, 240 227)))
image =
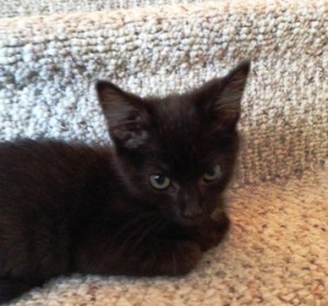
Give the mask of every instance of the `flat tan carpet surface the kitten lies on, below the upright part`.
POLYGON ((62 279, 12 305, 328 305, 328 172, 229 198, 229 238, 188 276, 62 279))

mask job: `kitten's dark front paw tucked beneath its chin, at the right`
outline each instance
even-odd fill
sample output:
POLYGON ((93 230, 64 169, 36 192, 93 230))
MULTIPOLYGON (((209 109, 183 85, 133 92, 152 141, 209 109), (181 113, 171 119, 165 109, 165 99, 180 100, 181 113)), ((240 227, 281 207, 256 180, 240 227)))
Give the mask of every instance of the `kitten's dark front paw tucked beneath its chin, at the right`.
POLYGON ((196 233, 192 237, 201 248, 206 251, 219 245, 230 227, 230 220, 225 212, 222 212, 219 217, 209 219, 202 225, 197 226, 196 233))

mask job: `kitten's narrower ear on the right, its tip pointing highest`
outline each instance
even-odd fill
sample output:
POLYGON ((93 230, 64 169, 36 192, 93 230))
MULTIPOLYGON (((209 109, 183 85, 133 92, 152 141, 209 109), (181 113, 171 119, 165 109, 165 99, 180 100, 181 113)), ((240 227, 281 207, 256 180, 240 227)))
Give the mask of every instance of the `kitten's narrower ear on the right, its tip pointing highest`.
POLYGON ((214 98, 212 111, 223 126, 235 127, 241 117, 241 102, 249 69, 250 61, 242 61, 220 80, 220 92, 214 98))

